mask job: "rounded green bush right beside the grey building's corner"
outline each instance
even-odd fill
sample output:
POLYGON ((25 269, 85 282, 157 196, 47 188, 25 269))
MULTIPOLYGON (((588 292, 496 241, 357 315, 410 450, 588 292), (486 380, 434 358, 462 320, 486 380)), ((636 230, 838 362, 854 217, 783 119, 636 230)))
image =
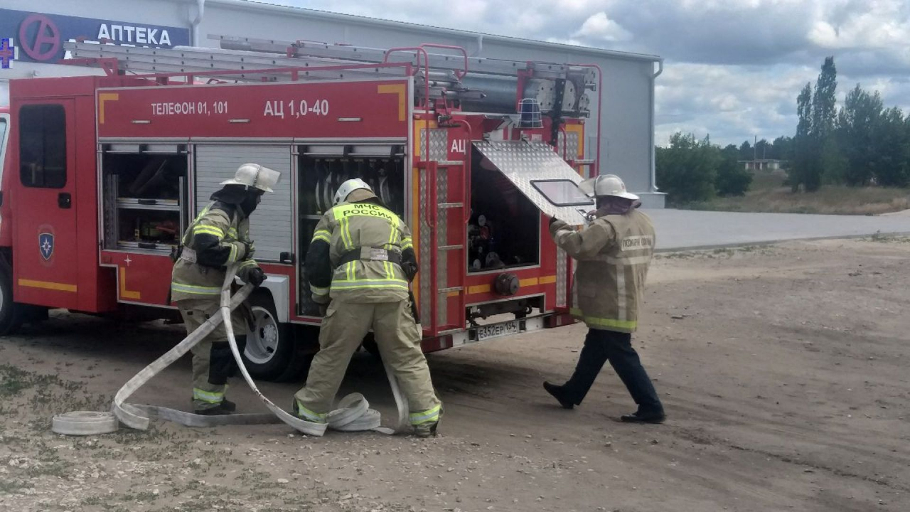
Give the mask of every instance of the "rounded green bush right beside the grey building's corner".
POLYGON ((720 150, 708 137, 675 133, 668 148, 655 148, 655 173, 661 189, 674 204, 710 200, 720 163, 720 150))

